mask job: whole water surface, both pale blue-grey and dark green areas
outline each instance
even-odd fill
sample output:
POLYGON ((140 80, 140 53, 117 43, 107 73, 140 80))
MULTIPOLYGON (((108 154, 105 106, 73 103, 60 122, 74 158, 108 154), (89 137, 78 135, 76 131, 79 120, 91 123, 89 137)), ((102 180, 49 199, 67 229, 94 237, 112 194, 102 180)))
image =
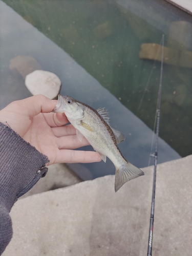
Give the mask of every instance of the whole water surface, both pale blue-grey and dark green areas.
MULTIPOLYGON (((105 106, 111 113, 112 126, 125 134, 126 141, 120 145, 125 158, 138 167, 146 166, 152 139, 148 127, 153 129, 154 125, 160 63, 154 66, 138 111, 154 63, 139 58, 139 52, 142 44, 159 44, 162 32, 166 46, 172 47, 168 45, 171 41, 169 27, 179 17, 177 11, 172 10, 161 27, 164 14, 158 16, 154 6, 147 7, 150 1, 144 8, 150 10, 153 22, 149 22, 148 14, 147 18, 140 11, 136 15, 133 7, 142 7, 142 1, 137 1, 137 5, 129 1, 132 3, 130 10, 122 1, 4 2, 20 16, 1 2, 0 107, 30 96, 23 77, 9 70, 9 62, 16 55, 30 55, 44 70, 54 72, 62 80, 61 94, 71 95, 94 108, 105 106)), ((157 1, 156 5, 159 3, 157 1)), ((167 11, 168 8, 166 14, 167 11)), ((188 15, 181 14, 183 12, 180 17, 190 22, 188 15)), ((187 40, 179 42, 185 50, 187 40)), ((190 68, 164 65, 160 136, 182 156, 192 153, 190 71, 190 68)), ((159 162, 179 157, 162 140, 159 148, 159 162)), ((114 172, 110 164, 108 161, 106 165, 100 163, 99 167, 98 164, 86 166, 95 170, 94 177, 98 177, 114 172)))

